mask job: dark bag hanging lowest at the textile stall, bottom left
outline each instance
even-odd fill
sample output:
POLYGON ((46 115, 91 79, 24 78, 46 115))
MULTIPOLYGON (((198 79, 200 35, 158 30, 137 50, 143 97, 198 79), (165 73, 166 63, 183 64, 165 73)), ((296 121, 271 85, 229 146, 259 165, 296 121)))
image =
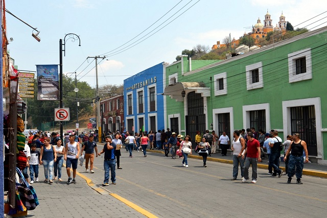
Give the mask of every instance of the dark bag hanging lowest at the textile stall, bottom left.
POLYGON ((18 167, 16 167, 16 172, 20 181, 22 182, 21 184, 16 183, 21 202, 24 204, 27 210, 34 210, 36 206, 39 205, 35 189, 26 182, 22 172, 18 167))

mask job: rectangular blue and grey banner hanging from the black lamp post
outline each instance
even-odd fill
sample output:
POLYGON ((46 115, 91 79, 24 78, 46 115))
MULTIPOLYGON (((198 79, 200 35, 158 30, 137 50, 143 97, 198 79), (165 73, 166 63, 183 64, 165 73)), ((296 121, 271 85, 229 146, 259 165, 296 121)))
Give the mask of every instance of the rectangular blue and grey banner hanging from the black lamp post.
POLYGON ((37 100, 59 100, 58 65, 46 64, 36 66, 37 100))

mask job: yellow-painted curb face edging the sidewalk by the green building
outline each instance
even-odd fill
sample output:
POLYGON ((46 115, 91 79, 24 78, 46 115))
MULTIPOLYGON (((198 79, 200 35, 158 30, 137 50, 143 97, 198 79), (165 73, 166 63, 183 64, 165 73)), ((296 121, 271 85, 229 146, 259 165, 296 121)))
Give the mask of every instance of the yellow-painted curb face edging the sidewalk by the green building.
MULTIPOLYGON (((147 149, 148 151, 149 149, 147 149)), ((161 150, 149 150, 149 152, 155 152, 155 153, 160 153, 160 154, 165 154, 164 151, 161 150)), ((201 156, 195 156, 195 155, 189 155, 189 158, 193 159, 198 159, 202 160, 201 156)), ((207 157, 207 161, 212 161, 212 162, 218 162, 218 163, 225 163, 225 164, 233 164, 232 160, 225 160, 225 159, 219 159, 219 158, 212 158, 212 157, 207 157)), ((268 165, 265 164, 258 164, 258 168, 260 169, 268 169, 268 165)), ((279 167, 282 170, 285 170, 285 167, 279 167)), ((315 170, 308 170, 308 169, 303 169, 302 175, 306 176, 312 176, 312 177, 321 177, 321 178, 327 178, 327 172, 320 172, 320 171, 315 171, 315 170)))

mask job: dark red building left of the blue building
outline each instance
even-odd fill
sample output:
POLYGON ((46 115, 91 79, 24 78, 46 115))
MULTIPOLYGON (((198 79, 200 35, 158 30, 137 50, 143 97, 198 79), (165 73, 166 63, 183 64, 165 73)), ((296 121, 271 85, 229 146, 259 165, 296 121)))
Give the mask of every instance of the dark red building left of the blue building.
POLYGON ((124 96, 118 95, 105 100, 101 100, 100 113, 102 120, 102 131, 106 134, 110 132, 123 132, 124 123, 124 96))

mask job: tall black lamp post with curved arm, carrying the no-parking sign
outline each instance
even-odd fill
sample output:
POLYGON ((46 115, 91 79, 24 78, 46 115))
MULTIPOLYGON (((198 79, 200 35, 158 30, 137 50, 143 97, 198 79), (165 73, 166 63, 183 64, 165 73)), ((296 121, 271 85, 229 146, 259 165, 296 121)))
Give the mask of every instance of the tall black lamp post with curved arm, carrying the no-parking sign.
MULTIPOLYGON (((62 99, 62 52, 64 52, 64 56, 66 55, 66 37, 68 36, 68 39, 72 39, 74 42, 75 40, 79 40, 79 46, 81 46, 81 39, 78 35, 74 33, 68 33, 65 35, 62 39, 59 39, 59 79, 60 79, 60 108, 63 107, 63 99, 62 99), (62 48, 63 46, 63 48, 62 48)), ((60 121, 60 139, 63 141, 63 126, 62 126, 62 121, 60 121)))

